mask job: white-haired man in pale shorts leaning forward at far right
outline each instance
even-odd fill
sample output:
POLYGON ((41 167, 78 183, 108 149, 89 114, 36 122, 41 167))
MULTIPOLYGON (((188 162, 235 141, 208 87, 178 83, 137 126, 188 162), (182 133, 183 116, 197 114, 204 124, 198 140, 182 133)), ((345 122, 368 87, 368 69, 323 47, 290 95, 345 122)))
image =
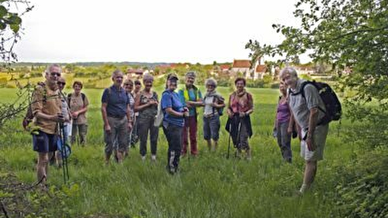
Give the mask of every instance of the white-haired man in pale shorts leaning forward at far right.
POLYGON ((299 190, 303 194, 314 182, 317 173, 317 162, 323 159, 329 124, 321 124, 320 121, 325 116, 326 107, 314 85, 307 84, 301 90, 302 83, 306 80, 298 78, 294 68, 284 68, 280 73, 280 79, 290 88, 291 118, 295 119, 301 127, 300 154, 306 161, 303 184, 299 190), (302 92, 304 92, 304 97, 301 94, 302 92))

